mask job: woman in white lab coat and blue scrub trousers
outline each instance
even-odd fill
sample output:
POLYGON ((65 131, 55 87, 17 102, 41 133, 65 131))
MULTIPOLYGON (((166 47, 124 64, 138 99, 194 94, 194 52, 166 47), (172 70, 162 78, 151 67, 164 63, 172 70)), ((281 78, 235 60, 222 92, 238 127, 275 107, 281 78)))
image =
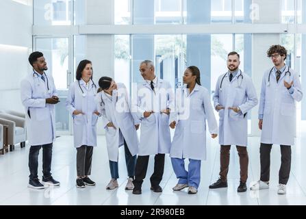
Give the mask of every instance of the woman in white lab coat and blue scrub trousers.
POLYGON ((170 157, 175 175, 179 179, 173 190, 178 191, 189 187, 188 193, 196 194, 201 179, 201 160, 206 159, 205 120, 207 119, 212 138, 218 136, 218 125, 210 103, 209 92, 201 86, 199 68, 188 67, 183 75, 183 83, 186 85, 181 90, 181 96, 177 95, 177 98, 182 98, 184 101, 181 102, 178 99, 176 101, 184 103, 183 109, 177 106, 177 112, 170 114, 170 127, 172 129, 176 127, 170 157), (184 166, 185 158, 190 161, 188 171, 184 166))

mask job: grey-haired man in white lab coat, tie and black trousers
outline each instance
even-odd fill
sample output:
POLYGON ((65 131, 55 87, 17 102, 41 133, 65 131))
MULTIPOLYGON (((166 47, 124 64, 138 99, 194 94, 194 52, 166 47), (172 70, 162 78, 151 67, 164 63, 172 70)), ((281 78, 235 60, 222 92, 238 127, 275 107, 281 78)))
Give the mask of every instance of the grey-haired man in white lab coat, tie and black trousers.
POLYGON ((164 174, 165 153, 170 153, 169 113, 173 105, 173 92, 168 81, 155 76, 153 62, 140 63, 140 73, 144 78, 138 87, 137 103, 132 111, 141 118, 140 147, 133 180, 133 194, 141 194, 141 186, 148 168, 149 155, 155 155, 154 172, 151 175, 151 190, 162 192, 160 181, 164 174))

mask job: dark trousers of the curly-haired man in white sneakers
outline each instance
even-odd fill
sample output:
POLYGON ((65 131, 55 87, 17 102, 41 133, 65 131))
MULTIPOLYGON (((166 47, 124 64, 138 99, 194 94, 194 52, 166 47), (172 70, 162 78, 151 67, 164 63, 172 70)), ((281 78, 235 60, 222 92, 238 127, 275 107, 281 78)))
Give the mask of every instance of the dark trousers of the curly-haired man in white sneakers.
MULTIPOLYGON (((260 144, 260 180, 270 180, 270 152, 272 144, 260 144)), ((287 184, 291 168, 291 146, 281 145, 281 168, 279 169, 279 183, 287 184)))

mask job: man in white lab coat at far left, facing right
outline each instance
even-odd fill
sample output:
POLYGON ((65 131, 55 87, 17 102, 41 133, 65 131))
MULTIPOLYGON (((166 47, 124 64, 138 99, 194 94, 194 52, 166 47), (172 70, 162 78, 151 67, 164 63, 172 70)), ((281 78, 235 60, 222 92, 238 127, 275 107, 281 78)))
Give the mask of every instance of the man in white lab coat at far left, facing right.
POLYGON ((54 105, 59 101, 47 63, 42 53, 29 55, 33 72, 21 81, 21 101, 25 106, 27 136, 29 138, 29 188, 43 189, 44 184, 60 185, 51 176, 52 146, 55 140, 54 105), (42 183, 38 180, 38 154, 42 148, 42 183))

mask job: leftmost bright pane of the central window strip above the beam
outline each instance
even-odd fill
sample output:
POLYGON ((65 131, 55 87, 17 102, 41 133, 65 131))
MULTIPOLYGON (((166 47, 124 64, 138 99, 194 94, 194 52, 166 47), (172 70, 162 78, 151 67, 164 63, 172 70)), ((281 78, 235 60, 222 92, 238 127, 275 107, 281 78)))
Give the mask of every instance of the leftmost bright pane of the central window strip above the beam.
POLYGON ((129 25, 131 23, 131 1, 115 0, 115 25, 129 25))

